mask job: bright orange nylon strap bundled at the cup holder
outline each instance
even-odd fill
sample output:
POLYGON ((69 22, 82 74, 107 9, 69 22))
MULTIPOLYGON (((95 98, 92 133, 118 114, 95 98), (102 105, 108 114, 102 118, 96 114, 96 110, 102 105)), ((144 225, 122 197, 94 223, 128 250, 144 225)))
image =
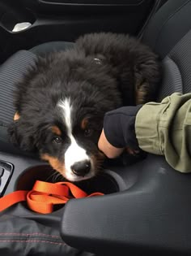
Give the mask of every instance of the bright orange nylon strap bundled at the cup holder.
POLYGON ((94 197, 103 193, 87 195, 82 189, 70 182, 49 183, 36 180, 31 191, 18 190, 0 198, 0 211, 17 202, 27 201, 28 207, 41 214, 53 212, 53 206, 65 204, 71 198, 94 197))

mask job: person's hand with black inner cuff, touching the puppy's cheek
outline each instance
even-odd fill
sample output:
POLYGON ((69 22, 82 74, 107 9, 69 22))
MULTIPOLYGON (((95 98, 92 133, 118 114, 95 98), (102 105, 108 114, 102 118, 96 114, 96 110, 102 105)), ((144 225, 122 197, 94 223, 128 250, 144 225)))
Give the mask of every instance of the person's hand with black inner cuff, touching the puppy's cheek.
POLYGON ((98 147, 108 158, 117 158, 124 150, 131 155, 139 153, 134 123, 140 108, 125 106, 105 114, 98 147))

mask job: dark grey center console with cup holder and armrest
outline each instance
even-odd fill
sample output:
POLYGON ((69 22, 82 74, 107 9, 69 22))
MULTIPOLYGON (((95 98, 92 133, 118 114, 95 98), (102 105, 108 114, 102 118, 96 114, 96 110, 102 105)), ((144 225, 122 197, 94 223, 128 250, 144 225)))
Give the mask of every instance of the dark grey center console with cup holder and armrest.
MULTIPOLYGON (((32 189, 36 180, 56 182, 53 170, 37 158, 1 153, 2 194, 32 189), (6 184, 6 185, 5 185, 6 184)), ((99 197, 71 199, 49 215, 18 203, 1 215, 35 219, 61 231, 66 244, 98 255, 181 254, 191 251, 190 174, 182 175, 163 157, 148 155, 129 167, 108 166, 92 180, 77 184, 99 197), (186 195, 186 197, 185 197, 186 195), (185 234, 185 236, 182 236, 185 234)))

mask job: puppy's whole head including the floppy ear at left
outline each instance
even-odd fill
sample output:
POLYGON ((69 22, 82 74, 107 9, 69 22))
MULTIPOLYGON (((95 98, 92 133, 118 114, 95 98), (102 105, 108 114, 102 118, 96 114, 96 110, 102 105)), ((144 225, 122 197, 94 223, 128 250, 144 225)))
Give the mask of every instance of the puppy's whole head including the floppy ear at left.
MULTIPOLYGON (((80 99, 79 99, 80 101, 80 99)), ((104 112, 62 98, 49 112, 15 115, 9 128, 11 141, 23 150, 38 150, 40 158, 70 181, 96 175, 104 160, 97 147, 104 112)))

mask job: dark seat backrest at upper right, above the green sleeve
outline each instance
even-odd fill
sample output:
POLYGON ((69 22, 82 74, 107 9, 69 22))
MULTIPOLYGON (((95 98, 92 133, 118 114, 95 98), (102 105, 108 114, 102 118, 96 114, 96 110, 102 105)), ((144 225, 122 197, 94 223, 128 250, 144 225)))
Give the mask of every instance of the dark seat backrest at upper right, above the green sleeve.
POLYGON ((191 91, 191 1, 168 0, 151 20, 142 41, 163 60, 158 100, 191 91))

